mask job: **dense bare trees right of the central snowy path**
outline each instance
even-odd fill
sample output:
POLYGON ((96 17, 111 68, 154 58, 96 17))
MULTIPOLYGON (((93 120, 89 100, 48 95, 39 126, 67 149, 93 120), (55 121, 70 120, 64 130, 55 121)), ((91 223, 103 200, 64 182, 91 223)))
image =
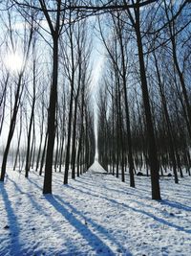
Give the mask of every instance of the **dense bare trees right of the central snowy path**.
POLYGON ((134 175, 146 169, 156 199, 159 172, 171 169, 178 183, 183 168, 189 175, 191 168, 190 5, 158 2, 108 13, 110 35, 98 20, 107 56, 98 98, 99 161, 117 176, 120 170, 122 181, 128 168, 132 187, 134 175))

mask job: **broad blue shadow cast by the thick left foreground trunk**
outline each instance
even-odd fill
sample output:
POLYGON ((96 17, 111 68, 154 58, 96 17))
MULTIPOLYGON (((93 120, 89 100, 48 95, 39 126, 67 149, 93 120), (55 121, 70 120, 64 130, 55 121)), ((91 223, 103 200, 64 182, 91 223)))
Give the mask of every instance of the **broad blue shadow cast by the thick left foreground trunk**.
MULTIPOLYGON (((84 216, 82 216, 81 213, 77 211, 70 203, 63 201, 59 196, 48 195, 46 196, 46 198, 53 205, 56 211, 62 214, 62 216, 74 226, 77 232, 81 234, 82 237, 84 237, 84 239, 96 251, 97 255, 110 255, 110 256, 116 255, 116 253, 114 253, 107 244, 104 244, 101 241, 101 239, 91 231, 88 224, 91 223, 92 226, 96 227, 96 230, 101 232, 105 238, 110 239, 111 242, 116 244, 115 238, 111 237, 105 228, 96 224, 94 221, 92 221, 89 218, 85 219, 84 216), (69 207, 72 210, 72 212, 69 212, 67 210, 67 207, 69 207), (82 223, 82 221, 77 220, 74 217, 74 214, 84 219, 84 223, 82 223), (85 224, 85 221, 87 221, 87 224, 85 224)), ((122 248, 121 244, 117 244, 117 245, 119 246, 119 248, 122 248)), ((124 250, 124 248, 122 249, 124 250)), ((131 254, 129 253, 126 255, 131 255, 131 254)))

